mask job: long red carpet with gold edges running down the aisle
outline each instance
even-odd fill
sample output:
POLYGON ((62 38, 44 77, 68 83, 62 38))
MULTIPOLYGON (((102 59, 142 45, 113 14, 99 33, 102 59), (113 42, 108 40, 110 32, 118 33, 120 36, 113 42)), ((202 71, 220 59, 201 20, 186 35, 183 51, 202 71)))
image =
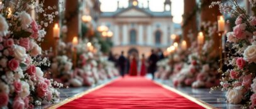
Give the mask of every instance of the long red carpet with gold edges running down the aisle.
POLYGON ((60 108, 203 108, 143 77, 120 78, 60 108))

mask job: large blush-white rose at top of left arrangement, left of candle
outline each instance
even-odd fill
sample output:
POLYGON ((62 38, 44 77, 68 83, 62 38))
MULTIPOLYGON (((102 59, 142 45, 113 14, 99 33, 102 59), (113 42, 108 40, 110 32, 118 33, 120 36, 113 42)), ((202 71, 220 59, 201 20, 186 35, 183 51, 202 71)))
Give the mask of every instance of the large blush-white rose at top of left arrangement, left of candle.
POLYGON ((28 28, 28 26, 32 22, 30 14, 26 13, 25 11, 22 11, 21 13, 19 13, 19 21, 21 21, 22 29, 28 28))

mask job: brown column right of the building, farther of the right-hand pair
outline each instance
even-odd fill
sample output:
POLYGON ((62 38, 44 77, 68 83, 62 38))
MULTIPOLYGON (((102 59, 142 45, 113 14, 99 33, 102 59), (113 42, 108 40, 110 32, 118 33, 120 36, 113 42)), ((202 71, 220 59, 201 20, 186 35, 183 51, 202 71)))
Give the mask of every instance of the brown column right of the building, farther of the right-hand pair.
MULTIPOLYGON (((189 31, 192 32, 194 38, 198 34, 197 25, 196 25, 196 13, 193 14, 192 10, 196 8, 196 0, 184 0, 184 18, 187 18, 182 25, 182 35, 183 39, 187 41, 187 45, 190 46, 191 42, 187 34, 189 31), (191 16, 193 14, 193 16, 191 16)), ((203 10, 202 10, 203 11, 203 10)))

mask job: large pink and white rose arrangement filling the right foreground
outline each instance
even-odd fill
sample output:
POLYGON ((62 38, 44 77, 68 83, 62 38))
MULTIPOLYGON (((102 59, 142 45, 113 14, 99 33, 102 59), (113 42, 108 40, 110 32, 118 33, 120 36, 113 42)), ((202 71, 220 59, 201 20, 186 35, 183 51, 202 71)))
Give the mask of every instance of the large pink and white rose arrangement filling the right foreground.
MULTIPOLYGON (((256 107, 256 1, 249 0, 254 13, 253 16, 246 14, 245 9, 238 5, 238 1, 230 3, 213 2, 220 7, 223 14, 237 17, 233 31, 226 34, 227 46, 230 51, 227 54, 225 65, 230 68, 221 71, 221 88, 227 91, 228 103, 242 103, 250 108, 256 107)), ((229 21, 227 21, 229 23, 229 21)), ((212 88, 212 90, 218 87, 212 88)))

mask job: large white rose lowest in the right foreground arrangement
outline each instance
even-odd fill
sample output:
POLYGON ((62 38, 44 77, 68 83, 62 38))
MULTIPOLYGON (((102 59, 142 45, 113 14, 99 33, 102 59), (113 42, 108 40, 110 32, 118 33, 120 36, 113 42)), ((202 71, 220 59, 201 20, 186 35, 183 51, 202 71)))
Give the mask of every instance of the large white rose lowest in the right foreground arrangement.
POLYGON ((226 92, 226 99, 228 100, 228 103, 237 104, 242 101, 243 94, 242 90, 240 90, 239 87, 229 89, 228 92, 226 92))

